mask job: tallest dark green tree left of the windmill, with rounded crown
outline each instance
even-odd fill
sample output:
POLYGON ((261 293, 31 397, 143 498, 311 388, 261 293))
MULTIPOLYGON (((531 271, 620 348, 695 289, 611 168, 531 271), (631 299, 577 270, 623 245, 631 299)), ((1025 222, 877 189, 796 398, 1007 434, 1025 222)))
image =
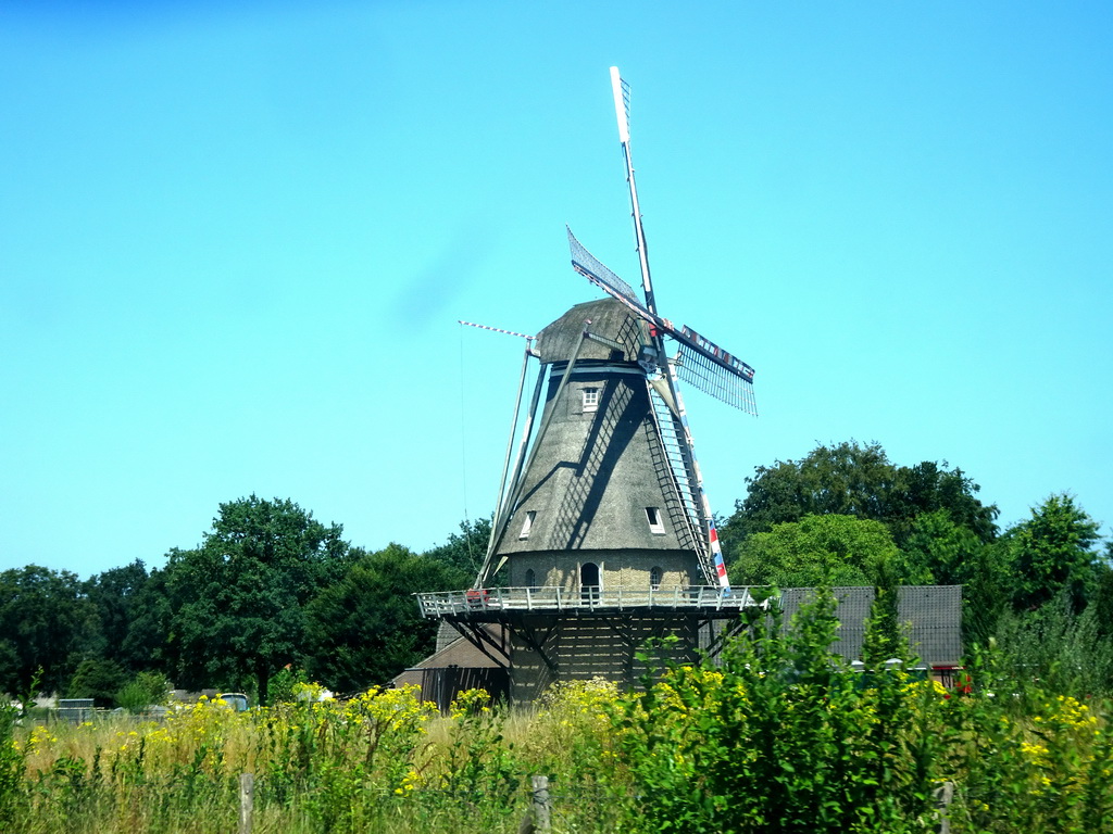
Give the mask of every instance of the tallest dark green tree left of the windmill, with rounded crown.
POLYGON ((179 685, 255 682, 301 655, 304 606, 347 565, 339 525, 325 526, 289 499, 220 505, 194 550, 167 563, 168 649, 179 685))

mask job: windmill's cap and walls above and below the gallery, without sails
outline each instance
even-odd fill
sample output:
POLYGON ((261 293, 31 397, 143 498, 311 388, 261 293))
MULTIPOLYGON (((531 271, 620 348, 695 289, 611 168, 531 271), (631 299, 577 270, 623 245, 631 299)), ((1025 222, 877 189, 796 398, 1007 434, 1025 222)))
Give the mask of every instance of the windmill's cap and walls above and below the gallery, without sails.
MULTIPOLYGON (((551 369, 540 420, 548 428, 496 544, 511 587, 574 597, 595 585, 595 572, 602 595, 686 593, 705 584, 701 534, 681 504, 639 364, 650 347, 641 319, 613 299, 577 305, 538 335, 541 363, 551 369), (581 341, 585 329, 601 339, 581 341)), ((690 663, 696 631, 690 616, 648 607, 526 617, 512 629, 511 697, 532 701, 556 679, 634 686, 646 672, 637 654, 648 638, 674 635, 670 659, 690 663)))

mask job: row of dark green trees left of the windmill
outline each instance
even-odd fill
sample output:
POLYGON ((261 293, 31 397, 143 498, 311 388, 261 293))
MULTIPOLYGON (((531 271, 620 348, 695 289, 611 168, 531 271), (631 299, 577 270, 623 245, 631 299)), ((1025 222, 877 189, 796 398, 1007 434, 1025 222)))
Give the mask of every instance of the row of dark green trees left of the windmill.
POLYGON ((88 579, 37 565, 0 573, 0 692, 93 697, 129 683, 249 692, 269 703, 298 679, 355 692, 429 654, 435 624, 413 594, 470 585, 490 523, 440 547, 367 552, 293 500, 219 506, 193 549, 88 579))

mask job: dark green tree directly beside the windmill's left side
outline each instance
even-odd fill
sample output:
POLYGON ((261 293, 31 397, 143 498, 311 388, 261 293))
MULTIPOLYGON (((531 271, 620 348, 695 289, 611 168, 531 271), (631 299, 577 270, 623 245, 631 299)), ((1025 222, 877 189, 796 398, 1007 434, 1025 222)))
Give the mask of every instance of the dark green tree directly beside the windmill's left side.
POLYGON ((460 588, 471 578, 400 545, 363 554, 306 607, 309 677, 338 692, 385 684, 434 647, 436 623, 421 617, 413 595, 460 588))

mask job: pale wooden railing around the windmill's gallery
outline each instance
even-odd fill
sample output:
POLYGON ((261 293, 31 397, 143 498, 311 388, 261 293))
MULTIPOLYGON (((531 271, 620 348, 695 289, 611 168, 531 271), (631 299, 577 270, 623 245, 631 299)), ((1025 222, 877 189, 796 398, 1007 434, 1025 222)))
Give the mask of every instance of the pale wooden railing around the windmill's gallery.
POLYGON ((569 590, 558 586, 541 588, 472 588, 417 594, 422 616, 469 612, 565 612, 630 608, 700 608, 737 612, 757 605, 749 588, 727 592, 712 585, 668 587, 659 590, 587 587, 569 590))

